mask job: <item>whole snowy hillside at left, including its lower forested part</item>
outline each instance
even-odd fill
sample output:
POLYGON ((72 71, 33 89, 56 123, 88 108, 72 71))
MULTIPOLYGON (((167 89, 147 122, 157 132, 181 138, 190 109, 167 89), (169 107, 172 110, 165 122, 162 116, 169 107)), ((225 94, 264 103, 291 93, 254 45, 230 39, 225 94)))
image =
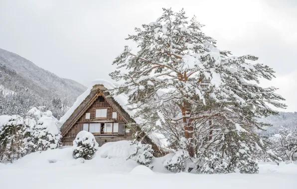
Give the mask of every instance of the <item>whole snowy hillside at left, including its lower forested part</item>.
POLYGON ((73 80, 0 49, 0 115, 23 115, 31 106, 46 106, 59 118, 85 90, 73 80))

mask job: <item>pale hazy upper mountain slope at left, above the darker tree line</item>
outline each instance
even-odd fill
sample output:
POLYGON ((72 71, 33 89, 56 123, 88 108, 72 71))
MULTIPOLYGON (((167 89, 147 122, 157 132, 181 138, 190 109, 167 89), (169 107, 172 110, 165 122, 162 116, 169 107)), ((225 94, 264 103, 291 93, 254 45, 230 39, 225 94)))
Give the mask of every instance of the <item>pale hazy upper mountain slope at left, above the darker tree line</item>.
POLYGON ((44 99, 67 98, 72 104, 87 88, 73 80, 59 78, 29 60, 0 49, 0 85, 11 91, 25 88, 44 99))

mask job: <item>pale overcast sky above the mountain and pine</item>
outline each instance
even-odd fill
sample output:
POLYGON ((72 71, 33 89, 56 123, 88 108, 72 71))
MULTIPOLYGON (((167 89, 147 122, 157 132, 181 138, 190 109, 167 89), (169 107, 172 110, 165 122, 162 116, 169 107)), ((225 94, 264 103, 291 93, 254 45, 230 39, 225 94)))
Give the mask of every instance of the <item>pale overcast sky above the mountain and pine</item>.
POLYGON ((276 71, 297 111, 297 0, 0 0, 0 48, 88 86, 115 68, 128 34, 155 21, 162 7, 185 9, 221 50, 253 54, 276 71))

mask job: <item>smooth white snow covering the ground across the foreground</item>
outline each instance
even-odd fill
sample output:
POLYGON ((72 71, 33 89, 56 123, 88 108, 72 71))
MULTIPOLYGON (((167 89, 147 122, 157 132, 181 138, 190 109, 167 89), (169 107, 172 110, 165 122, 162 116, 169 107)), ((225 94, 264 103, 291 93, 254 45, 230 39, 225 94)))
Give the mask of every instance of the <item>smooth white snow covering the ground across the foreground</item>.
POLYGON ((164 158, 156 158, 152 172, 137 167, 133 160, 126 161, 133 147, 121 142, 100 148, 96 157, 85 163, 72 158, 71 148, 63 148, 32 153, 13 164, 0 164, 0 189, 294 189, 297 186, 295 164, 260 164, 260 173, 254 175, 169 174, 161 167, 164 158))

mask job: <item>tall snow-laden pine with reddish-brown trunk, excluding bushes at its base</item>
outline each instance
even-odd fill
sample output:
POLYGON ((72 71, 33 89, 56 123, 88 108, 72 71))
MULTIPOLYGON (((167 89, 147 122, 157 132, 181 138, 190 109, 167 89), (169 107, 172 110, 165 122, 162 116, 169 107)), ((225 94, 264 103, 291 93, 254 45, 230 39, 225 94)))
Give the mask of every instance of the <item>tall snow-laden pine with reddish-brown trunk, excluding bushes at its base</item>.
POLYGON ((201 146, 208 149, 204 147, 208 141, 212 146, 224 140, 228 131, 240 128, 248 131, 238 133, 246 136, 251 148, 255 143, 261 146, 254 130, 265 124, 255 118, 278 113, 267 104, 286 107, 278 101, 284 98, 275 94, 276 88, 258 85, 260 78, 274 78, 274 71, 254 63, 255 56, 237 57, 219 50, 216 41, 201 31, 202 26, 195 17, 188 20, 183 9, 164 8, 156 21, 136 28, 127 40, 136 42, 139 49, 125 46, 113 62, 118 69, 110 76, 124 81, 113 94, 129 96, 129 104, 141 109, 136 116, 145 120, 141 126, 148 131, 162 128, 166 119, 161 107, 172 101, 180 113, 167 120, 182 121, 179 128, 191 157, 201 146), (158 117, 153 119, 155 124, 147 124, 153 116, 158 117))

